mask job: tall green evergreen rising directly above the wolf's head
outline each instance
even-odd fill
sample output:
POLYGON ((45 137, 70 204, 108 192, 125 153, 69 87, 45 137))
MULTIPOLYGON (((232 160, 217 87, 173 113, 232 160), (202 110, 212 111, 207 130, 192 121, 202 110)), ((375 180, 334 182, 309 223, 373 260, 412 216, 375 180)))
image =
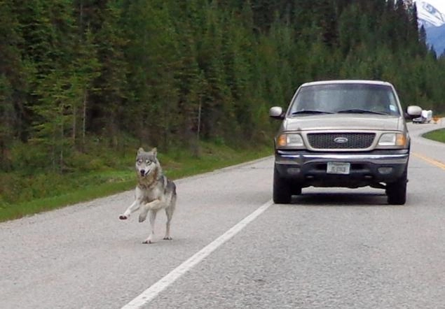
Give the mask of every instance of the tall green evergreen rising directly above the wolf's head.
POLYGON ((144 143, 168 146, 177 130, 177 33, 164 1, 132 1, 126 12, 132 121, 144 143))

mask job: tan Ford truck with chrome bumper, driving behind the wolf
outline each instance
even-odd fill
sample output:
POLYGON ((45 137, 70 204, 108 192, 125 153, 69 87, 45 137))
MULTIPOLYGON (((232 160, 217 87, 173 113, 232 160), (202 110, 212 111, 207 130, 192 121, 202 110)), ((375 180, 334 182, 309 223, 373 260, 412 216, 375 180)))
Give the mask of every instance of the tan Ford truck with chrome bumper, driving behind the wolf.
POLYGON ((410 138, 395 88, 374 80, 307 82, 287 110, 275 136, 273 201, 290 203, 304 187, 371 186, 385 189, 388 203, 406 202, 410 138))

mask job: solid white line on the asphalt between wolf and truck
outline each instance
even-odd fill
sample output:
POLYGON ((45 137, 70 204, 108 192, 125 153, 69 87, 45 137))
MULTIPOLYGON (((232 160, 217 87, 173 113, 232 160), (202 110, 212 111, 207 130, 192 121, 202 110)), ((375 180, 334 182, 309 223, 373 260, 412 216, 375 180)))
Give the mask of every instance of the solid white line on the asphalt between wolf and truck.
POLYGON ((135 308, 142 308, 142 306, 146 305, 146 303, 149 303, 151 300, 153 300, 160 292, 162 292, 164 289, 166 289, 169 285, 171 285, 174 281, 179 279, 184 273, 187 271, 190 271, 193 266, 198 264, 200 261, 205 259, 205 257, 209 256, 214 250, 217 250, 219 246, 224 244, 227 240, 231 239, 233 236, 235 236, 237 233, 239 233, 242 229, 244 229, 247 224, 254 221, 256 217, 261 215, 264 211, 267 210, 271 205, 273 205, 272 201, 268 201, 267 203, 260 206, 258 209, 256 209, 253 213, 245 217, 243 220, 235 224, 231 229, 226 231, 226 233, 219 236, 217 239, 213 240, 212 243, 208 244, 207 246, 203 247, 202 250, 196 252, 196 254, 193 254, 191 258, 184 261, 181 265, 177 266, 177 268, 174 268, 173 271, 165 275, 164 278, 160 279, 158 282, 156 282, 154 285, 146 289, 144 292, 142 292, 139 296, 137 296, 135 299, 130 301, 130 303, 126 304, 122 307, 122 309, 135 309, 135 308))

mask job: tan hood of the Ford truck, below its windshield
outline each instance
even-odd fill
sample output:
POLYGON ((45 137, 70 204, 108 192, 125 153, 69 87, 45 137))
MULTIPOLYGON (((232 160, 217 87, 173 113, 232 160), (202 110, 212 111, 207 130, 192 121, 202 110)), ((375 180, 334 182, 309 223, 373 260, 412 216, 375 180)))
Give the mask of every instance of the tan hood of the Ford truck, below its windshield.
POLYGON ((285 131, 315 130, 395 130, 403 131, 402 117, 369 114, 323 114, 289 117, 283 122, 285 131))

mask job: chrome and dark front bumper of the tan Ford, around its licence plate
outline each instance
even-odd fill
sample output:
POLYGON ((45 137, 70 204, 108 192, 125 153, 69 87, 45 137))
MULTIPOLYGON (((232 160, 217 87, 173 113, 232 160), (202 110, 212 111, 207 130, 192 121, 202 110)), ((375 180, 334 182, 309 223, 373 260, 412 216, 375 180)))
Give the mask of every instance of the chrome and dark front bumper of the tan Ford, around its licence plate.
POLYGON ((408 149, 341 153, 275 152, 275 168, 280 177, 292 179, 301 187, 364 187, 394 182, 406 171, 408 160, 408 149), (350 173, 329 174, 328 162, 348 162, 350 173))

